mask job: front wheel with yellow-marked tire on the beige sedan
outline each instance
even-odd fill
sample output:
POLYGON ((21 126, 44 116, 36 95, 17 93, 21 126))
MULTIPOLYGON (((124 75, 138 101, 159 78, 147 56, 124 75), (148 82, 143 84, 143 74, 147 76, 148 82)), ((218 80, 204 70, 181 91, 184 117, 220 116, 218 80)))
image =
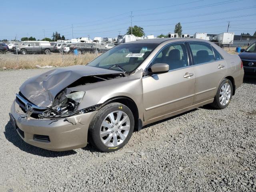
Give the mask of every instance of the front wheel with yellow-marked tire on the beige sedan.
POLYGON ((121 103, 110 103, 102 107, 90 122, 88 140, 98 150, 112 152, 130 140, 133 130, 132 111, 121 103))

